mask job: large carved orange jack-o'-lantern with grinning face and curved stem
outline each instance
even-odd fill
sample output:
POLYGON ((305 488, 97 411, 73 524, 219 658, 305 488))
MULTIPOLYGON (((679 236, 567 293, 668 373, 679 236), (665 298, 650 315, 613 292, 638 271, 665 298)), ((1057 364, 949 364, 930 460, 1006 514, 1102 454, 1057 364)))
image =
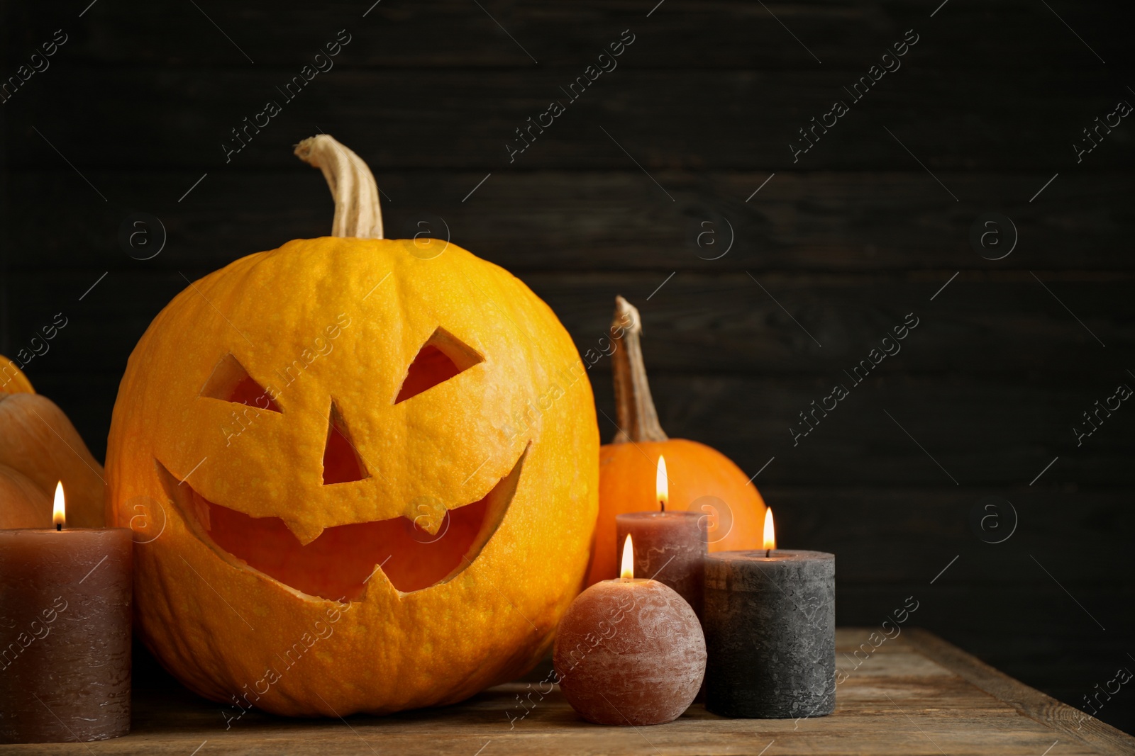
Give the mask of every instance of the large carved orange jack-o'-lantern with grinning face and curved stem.
POLYGON ((591 389, 523 283, 382 239, 359 156, 296 153, 336 236, 190 286, 119 389, 107 477, 138 631, 226 719, 460 700, 535 663, 581 587, 591 389))

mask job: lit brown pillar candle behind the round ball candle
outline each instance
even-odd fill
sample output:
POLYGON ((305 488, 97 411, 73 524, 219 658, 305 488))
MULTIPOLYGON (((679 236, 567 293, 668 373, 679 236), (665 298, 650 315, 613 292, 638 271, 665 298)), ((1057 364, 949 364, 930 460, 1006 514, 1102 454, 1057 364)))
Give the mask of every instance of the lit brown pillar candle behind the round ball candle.
MULTIPOLYGON (((658 457, 655 492, 659 511, 627 512, 615 516, 615 543, 634 536, 634 574, 646 575, 673 588, 701 618, 705 589, 704 561, 708 552, 706 518, 698 512, 666 511, 670 484, 666 460, 658 457)), ((615 554, 619 563, 622 554, 615 554)))

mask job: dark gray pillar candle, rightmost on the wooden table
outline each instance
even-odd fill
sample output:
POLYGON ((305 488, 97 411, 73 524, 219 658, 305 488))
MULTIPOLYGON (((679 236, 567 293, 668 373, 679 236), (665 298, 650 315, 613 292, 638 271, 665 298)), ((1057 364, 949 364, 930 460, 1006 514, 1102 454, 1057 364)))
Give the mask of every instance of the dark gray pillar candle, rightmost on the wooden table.
POLYGON ((706 708, 743 719, 831 714, 835 555, 718 551, 706 557, 705 579, 706 708))

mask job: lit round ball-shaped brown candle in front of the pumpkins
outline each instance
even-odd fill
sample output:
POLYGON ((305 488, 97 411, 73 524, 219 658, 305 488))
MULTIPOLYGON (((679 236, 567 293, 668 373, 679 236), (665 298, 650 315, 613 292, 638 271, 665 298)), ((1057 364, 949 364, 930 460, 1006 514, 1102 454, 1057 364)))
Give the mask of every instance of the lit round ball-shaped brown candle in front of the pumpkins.
POLYGON ((632 547, 624 577, 596 583, 568 609, 553 663, 568 703, 597 724, 663 724, 693 702, 706 666, 693 610, 657 580, 636 579, 632 547))

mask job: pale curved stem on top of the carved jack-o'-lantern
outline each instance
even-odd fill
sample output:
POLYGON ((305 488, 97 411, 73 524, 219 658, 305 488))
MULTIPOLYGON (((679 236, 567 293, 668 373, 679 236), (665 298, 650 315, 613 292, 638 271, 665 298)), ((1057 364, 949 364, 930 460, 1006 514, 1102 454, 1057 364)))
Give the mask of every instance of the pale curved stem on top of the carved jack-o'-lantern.
POLYGON ((323 171, 335 197, 331 236, 359 239, 382 238, 382 211, 378 206, 378 185, 362 158, 335 138, 319 134, 295 145, 303 162, 323 171))

